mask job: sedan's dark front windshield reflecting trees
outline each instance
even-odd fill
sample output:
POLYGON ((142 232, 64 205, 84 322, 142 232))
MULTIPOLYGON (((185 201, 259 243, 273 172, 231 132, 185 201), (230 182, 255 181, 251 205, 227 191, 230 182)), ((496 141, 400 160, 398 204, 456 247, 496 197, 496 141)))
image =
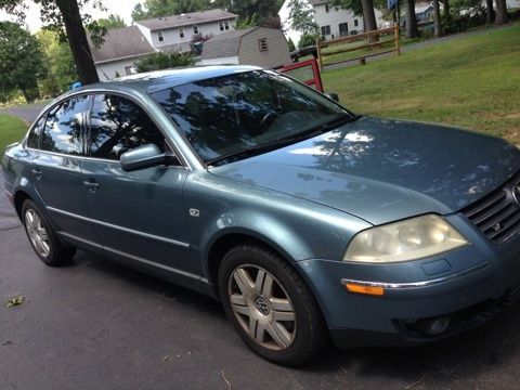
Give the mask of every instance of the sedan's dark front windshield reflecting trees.
POLYGON ((152 94, 205 162, 350 116, 299 82, 270 70, 199 80, 152 94))

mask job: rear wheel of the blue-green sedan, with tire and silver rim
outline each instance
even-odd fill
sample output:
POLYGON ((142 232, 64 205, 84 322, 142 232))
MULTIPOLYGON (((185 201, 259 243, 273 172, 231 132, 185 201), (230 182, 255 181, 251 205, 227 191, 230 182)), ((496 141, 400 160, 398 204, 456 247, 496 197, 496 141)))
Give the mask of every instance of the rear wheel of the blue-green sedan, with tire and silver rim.
POLYGON ((35 253, 47 265, 62 265, 76 252, 76 248, 65 246, 60 240, 46 214, 30 199, 22 205, 22 222, 35 253))

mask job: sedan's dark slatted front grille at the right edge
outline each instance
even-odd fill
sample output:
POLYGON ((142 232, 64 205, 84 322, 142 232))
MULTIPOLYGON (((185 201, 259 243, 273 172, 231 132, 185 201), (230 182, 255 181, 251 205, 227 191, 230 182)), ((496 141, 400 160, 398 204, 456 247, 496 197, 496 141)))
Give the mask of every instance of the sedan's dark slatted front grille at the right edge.
POLYGON ((492 242, 507 242, 520 232, 520 174, 463 212, 492 242))

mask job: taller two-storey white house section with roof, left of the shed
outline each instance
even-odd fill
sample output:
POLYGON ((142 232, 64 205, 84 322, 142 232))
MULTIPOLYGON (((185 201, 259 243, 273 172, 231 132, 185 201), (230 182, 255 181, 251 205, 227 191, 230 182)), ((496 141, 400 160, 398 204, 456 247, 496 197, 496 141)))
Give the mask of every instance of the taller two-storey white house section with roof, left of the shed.
POLYGON ((188 52, 193 36, 233 31, 237 17, 224 10, 208 10, 139 21, 135 26, 156 50, 188 52))

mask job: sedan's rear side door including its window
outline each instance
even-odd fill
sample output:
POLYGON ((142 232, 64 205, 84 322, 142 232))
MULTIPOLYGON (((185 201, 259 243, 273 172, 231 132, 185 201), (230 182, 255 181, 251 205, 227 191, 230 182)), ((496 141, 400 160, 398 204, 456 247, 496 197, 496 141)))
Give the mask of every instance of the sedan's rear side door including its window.
POLYGON ((88 95, 69 98, 51 108, 32 146, 31 177, 47 211, 65 235, 95 242, 94 229, 87 223, 82 158, 84 157, 84 115, 88 95))

